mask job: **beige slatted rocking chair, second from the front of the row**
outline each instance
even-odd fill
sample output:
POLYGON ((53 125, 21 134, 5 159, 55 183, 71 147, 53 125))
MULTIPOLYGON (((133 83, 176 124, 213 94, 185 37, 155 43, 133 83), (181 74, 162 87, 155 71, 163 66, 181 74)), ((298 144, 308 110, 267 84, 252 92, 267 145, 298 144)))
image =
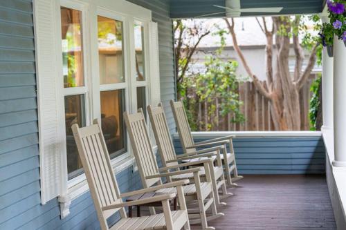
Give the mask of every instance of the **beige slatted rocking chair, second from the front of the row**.
MULTIPOLYGON (((198 204, 198 209, 188 208, 190 224, 201 224, 202 229, 215 229, 213 227, 208 227, 207 221, 215 220, 216 218, 224 216, 224 213, 217 213, 210 177, 210 160, 206 159, 202 162, 206 174, 206 182, 200 181, 200 167, 172 172, 168 172, 168 170, 173 169, 174 167, 158 169, 156 156, 152 149, 142 109, 140 109, 138 113, 131 115, 125 112, 124 118, 143 186, 149 188, 154 184, 162 184, 163 182, 161 178, 167 178, 168 181, 172 181, 172 176, 174 175, 182 175, 186 173, 193 174, 194 184, 183 186, 183 193, 185 194, 185 200, 188 206, 189 204, 194 206, 198 204), (162 171, 163 173, 161 173, 162 171), (207 217, 206 211, 209 208, 211 209, 212 215, 207 217)), ((179 166, 175 166, 175 169, 178 168, 179 166)), ((172 193, 172 191, 174 191, 174 189, 161 189, 157 192, 172 193)), ((152 210, 152 212, 154 211, 152 210)))

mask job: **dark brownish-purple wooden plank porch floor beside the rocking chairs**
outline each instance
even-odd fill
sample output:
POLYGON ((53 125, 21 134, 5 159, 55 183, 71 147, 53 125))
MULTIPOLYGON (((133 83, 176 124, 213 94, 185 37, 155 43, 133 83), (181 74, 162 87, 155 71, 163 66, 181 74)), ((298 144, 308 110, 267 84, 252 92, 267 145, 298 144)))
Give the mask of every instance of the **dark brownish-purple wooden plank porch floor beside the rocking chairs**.
MULTIPOLYGON (((325 175, 244 175, 216 229, 336 229, 325 175)), ((192 229, 200 229, 192 226, 192 229)))

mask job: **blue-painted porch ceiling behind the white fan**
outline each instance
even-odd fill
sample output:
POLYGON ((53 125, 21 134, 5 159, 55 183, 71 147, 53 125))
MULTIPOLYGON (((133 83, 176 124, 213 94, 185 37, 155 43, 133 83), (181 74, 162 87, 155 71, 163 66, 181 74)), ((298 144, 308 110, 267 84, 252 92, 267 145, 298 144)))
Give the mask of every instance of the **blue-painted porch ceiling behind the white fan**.
MULTIPOLYGON (((283 7, 280 15, 313 14, 322 12, 325 0, 241 0, 245 8, 283 7)), ((192 18, 223 11, 213 5, 225 6, 225 0, 170 0, 170 15, 173 19, 192 18)), ((264 13, 244 12, 242 16, 264 15, 264 13)), ((267 14, 270 15, 270 14, 267 14)), ((225 17, 226 14, 212 17, 225 17)))

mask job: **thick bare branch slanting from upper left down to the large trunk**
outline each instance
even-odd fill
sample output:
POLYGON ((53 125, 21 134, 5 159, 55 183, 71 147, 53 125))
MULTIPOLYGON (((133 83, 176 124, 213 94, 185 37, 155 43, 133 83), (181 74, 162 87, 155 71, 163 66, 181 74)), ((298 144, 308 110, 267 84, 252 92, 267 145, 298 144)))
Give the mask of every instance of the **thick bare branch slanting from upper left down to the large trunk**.
POLYGON ((237 52, 240 61, 242 61, 242 64, 246 70, 246 73, 253 79, 253 83, 257 90, 267 99, 271 99, 271 93, 264 88, 264 86, 261 84, 260 80, 252 73, 251 68, 248 66, 248 63, 246 62, 246 59, 243 55, 242 50, 240 50, 238 42, 237 42, 237 37, 235 36, 235 22, 234 19, 232 18, 232 24, 228 21, 228 19, 224 19, 226 21, 228 30, 230 31, 230 35, 232 36, 233 39, 233 47, 235 48, 235 51, 237 52))

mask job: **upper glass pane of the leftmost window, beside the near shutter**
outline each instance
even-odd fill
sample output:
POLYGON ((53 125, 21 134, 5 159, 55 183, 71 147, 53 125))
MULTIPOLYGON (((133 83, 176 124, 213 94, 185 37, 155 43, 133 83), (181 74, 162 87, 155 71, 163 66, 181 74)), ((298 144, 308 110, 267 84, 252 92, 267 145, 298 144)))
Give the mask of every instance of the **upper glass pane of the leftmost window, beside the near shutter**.
POLYGON ((82 12, 61 7, 64 88, 84 86, 82 12))

